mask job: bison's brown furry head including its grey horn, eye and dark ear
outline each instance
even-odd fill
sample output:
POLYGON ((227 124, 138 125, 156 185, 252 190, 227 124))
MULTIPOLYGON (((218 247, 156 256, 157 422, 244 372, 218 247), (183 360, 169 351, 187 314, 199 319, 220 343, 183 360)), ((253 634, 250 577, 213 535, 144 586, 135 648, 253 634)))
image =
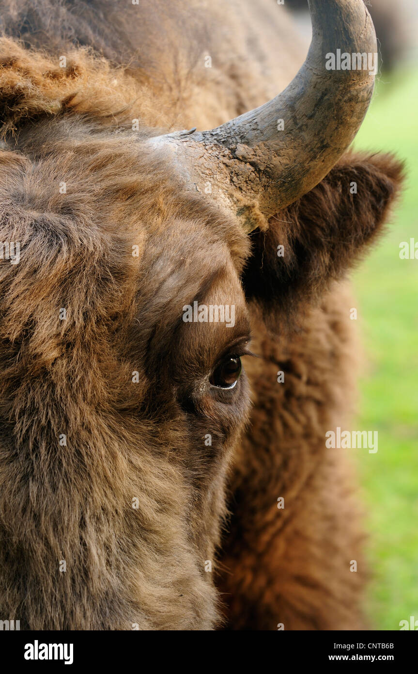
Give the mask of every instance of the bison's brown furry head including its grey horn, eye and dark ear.
POLYGON ((196 133, 115 129, 95 96, 117 70, 1 40, 1 241, 20 260, 0 264, 0 596, 21 625, 216 623, 205 564, 250 409, 250 313, 300 315, 378 232, 400 175, 340 160, 374 77, 325 56, 376 51, 368 12, 310 4, 285 92, 196 133))

